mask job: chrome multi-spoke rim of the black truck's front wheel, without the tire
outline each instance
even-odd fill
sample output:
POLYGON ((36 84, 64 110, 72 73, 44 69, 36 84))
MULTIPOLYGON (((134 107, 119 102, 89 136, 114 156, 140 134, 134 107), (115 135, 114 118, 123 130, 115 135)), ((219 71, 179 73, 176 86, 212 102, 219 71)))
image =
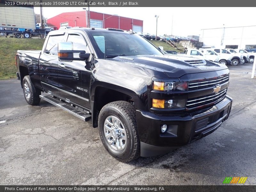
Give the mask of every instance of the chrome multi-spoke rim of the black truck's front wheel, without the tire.
POLYGON ((127 135, 124 125, 116 116, 108 116, 104 122, 104 133, 110 147, 122 151, 126 147, 127 135))

